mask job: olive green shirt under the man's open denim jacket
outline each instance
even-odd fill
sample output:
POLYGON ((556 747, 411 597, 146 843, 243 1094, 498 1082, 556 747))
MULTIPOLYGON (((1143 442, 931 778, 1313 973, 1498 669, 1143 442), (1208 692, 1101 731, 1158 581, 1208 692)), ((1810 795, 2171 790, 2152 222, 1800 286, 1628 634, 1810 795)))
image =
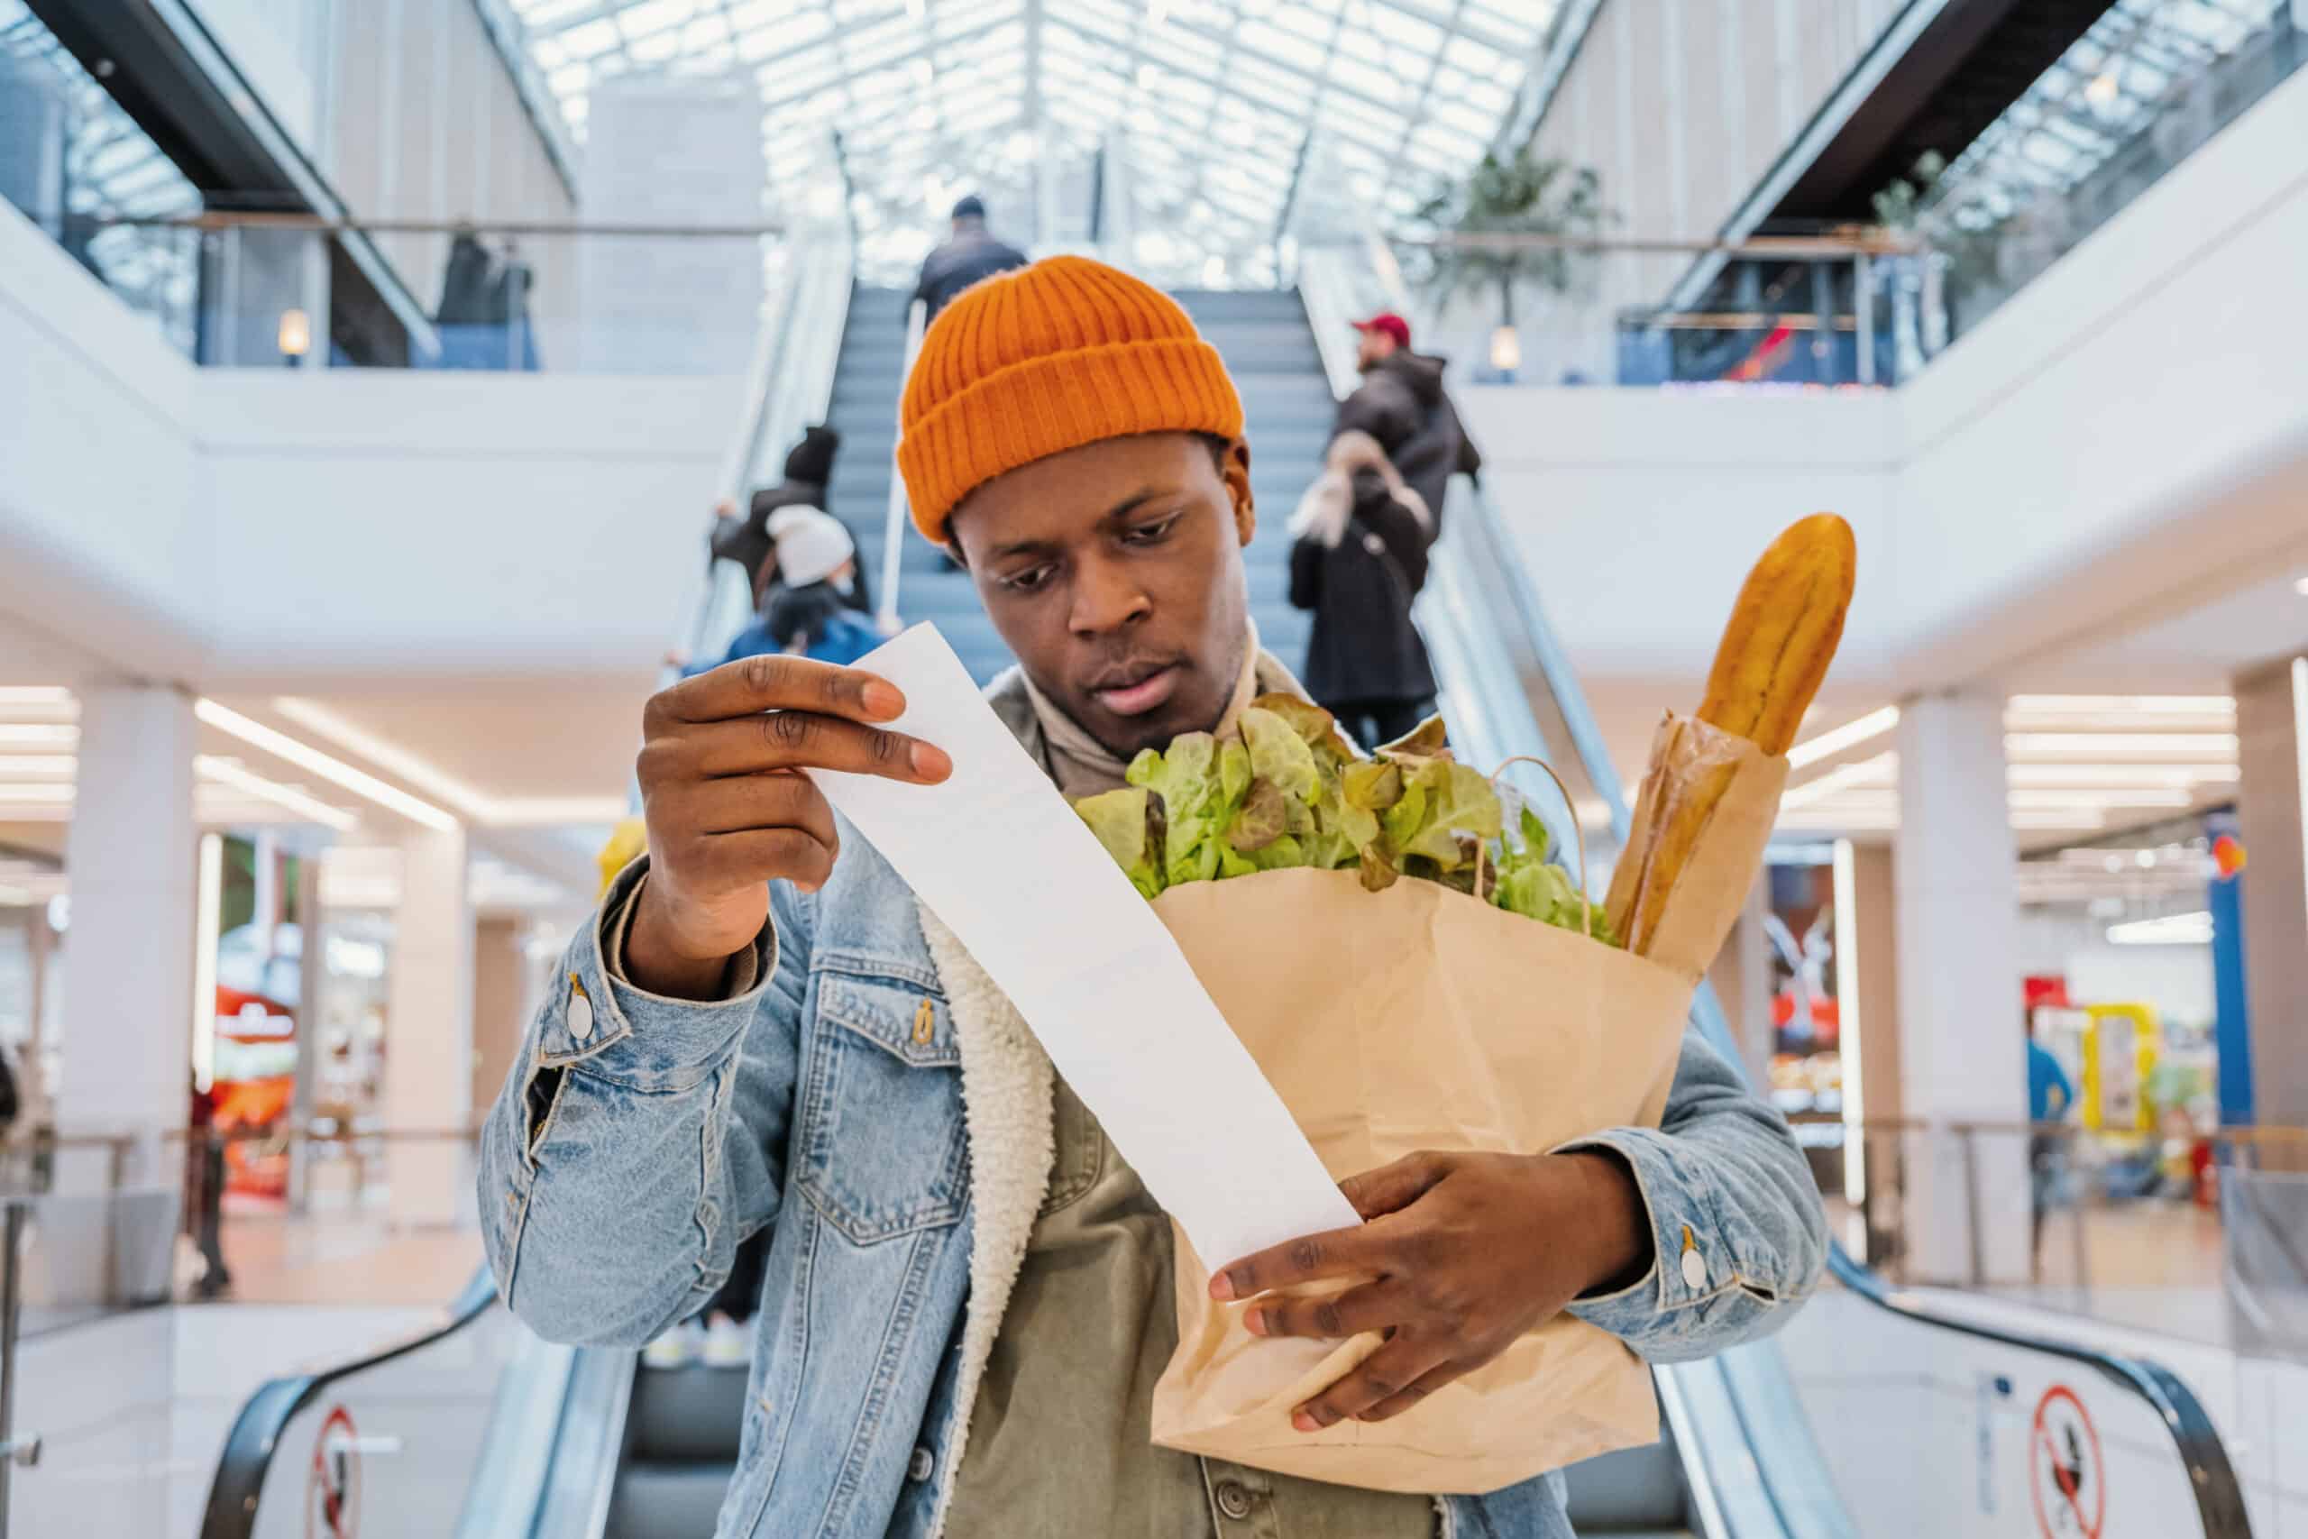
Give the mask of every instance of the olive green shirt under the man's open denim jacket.
POLYGON ((1154 1380, 1177 1347, 1170 1218, 1064 1080, 1052 1131, 944 1539, 1431 1539, 1429 1497, 1154 1447, 1154 1380))

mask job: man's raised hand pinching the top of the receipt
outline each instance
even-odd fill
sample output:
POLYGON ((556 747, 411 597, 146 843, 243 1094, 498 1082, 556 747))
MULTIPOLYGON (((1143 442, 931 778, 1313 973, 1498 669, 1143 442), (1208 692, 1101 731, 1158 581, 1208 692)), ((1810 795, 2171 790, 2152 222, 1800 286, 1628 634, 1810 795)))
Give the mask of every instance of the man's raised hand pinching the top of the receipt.
POLYGON ((833 808, 812 768, 937 784, 944 750, 879 722, 905 695, 859 669, 764 655, 683 678, 642 713, 649 886, 625 937, 625 976, 709 999, 769 918, 771 881, 815 891, 833 872, 833 808))

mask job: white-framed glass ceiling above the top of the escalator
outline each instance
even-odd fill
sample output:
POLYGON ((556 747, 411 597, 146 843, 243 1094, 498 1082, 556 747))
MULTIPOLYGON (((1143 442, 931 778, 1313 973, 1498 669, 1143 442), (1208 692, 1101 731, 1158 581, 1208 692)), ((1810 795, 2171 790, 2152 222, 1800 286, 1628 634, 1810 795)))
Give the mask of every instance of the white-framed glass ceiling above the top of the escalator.
POLYGON ((1103 148, 1106 187, 1124 189, 1119 217, 1145 231, 1142 254, 1172 258, 1163 265, 1191 256, 1209 279, 1251 277, 1272 258, 1286 212, 1322 194, 1406 212, 1438 178, 1473 166, 1563 9, 1560 0, 510 7, 577 136, 602 78, 755 76, 766 212, 838 212, 847 173, 868 265, 919 261, 962 192, 981 192, 1018 245, 1080 240, 1103 148))

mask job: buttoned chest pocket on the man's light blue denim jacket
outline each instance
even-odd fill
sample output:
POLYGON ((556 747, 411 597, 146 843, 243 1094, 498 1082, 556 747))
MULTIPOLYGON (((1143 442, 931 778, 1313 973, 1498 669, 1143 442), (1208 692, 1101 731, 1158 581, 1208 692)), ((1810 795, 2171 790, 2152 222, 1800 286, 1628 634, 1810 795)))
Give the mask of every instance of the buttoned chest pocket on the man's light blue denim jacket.
POLYGON ((812 994, 794 1126, 801 1191, 856 1244, 960 1221, 969 1144, 944 997, 842 962, 815 976, 812 994))

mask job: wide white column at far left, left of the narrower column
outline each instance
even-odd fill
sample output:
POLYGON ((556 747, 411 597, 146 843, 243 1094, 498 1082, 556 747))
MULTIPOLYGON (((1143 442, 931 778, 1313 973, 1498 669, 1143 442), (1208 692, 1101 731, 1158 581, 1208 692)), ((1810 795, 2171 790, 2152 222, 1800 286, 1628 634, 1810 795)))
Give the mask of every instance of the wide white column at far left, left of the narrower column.
MULTIPOLYGON (((81 690, 55 1119, 65 1133, 134 1133, 134 1184, 178 1179, 159 1135, 189 1112, 192 750, 192 701, 175 690, 81 690)), ((83 1168, 69 1161, 60 1174, 83 1168)))

